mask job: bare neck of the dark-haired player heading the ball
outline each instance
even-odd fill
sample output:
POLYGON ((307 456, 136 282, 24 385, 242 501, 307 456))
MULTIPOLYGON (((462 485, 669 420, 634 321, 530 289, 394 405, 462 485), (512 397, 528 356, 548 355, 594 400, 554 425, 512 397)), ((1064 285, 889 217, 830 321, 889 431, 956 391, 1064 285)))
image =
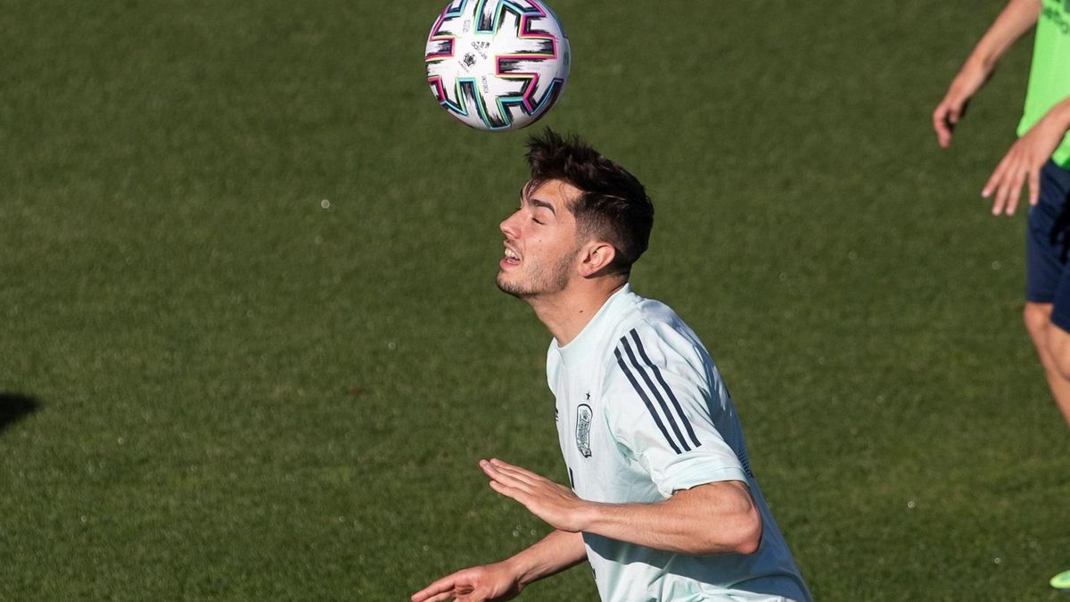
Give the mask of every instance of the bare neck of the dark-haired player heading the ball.
POLYGON ((627 280, 617 279, 577 281, 569 283, 564 290, 526 301, 557 344, 564 347, 580 334, 606 300, 627 283, 627 280))

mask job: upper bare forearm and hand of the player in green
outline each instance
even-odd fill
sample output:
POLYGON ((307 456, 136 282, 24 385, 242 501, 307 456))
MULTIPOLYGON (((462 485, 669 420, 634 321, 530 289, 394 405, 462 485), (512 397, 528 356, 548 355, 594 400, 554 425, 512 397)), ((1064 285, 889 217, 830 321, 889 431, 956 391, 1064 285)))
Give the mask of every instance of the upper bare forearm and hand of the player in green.
POLYGON ((1037 22, 1040 9, 1041 0, 1010 0, 981 36, 933 110, 933 129, 942 147, 951 144, 951 131, 966 103, 984 85, 1007 49, 1037 22))

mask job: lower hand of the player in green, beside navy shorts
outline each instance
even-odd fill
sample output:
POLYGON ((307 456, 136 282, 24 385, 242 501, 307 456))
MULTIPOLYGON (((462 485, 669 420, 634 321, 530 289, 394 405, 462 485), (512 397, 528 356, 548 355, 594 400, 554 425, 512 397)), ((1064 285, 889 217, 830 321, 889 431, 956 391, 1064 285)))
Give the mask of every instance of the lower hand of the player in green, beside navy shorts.
POLYGON ((1040 198, 1040 169, 1055 152, 1065 134, 1066 129, 1054 120, 1044 118, 1010 147, 981 191, 984 198, 995 193, 992 201, 993 215, 1013 215, 1022 187, 1026 185, 1029 205, 1037 204, 1040 198))

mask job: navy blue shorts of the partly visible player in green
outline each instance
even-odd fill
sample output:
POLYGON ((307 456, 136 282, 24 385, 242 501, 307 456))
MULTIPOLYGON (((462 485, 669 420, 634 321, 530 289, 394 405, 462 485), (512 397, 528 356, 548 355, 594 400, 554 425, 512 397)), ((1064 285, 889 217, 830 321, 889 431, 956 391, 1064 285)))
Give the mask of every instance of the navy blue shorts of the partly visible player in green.
POLYGON ((1025 299, 1052 303, 1052 322, 1070 332, 1070 170, 1049 161, 1025 231, 1025 299))

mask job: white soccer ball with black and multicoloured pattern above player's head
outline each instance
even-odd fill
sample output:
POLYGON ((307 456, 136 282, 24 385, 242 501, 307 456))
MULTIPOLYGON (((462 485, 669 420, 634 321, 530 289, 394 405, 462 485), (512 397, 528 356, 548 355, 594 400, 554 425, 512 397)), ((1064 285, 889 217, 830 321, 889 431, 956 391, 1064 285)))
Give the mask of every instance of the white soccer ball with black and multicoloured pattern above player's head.
POLYGON ((519 130, 565 89, 568 37, 541 0, 453 0, 431 27, 424 60, 449 115, 476 130, 519 130))

